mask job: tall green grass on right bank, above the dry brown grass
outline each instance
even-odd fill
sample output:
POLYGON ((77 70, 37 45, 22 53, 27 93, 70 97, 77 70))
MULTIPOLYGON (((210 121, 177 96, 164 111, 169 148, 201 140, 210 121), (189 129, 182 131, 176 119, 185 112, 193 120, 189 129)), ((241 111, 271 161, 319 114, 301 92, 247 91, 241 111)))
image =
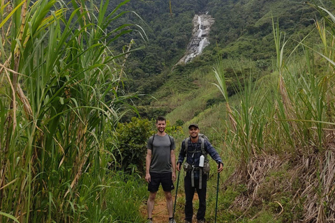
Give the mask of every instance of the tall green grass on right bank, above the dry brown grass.
MULTIPOLYGON (((334 15, 315 8, 327 14, 325 21, 334 25, 334 15)), ((285 54, 288 41, 293 40, 286 39, 273 24, 274 72, 257 82, 250 78, 258 75, 255 71, 245 74, 244 81, 237 79, 239 105, 233 104, 226 91, 225 69, 232 65, 219 59, 214 68, 216 86, 226 100, 225 143, 243 167, 262 153, 322 151, 334 128, 334 30, 327 30, 325 22, 316 22, 321 44, 307 46, 301 40, 285 54), (275 78, 276 84, 271 84, 275 78)))

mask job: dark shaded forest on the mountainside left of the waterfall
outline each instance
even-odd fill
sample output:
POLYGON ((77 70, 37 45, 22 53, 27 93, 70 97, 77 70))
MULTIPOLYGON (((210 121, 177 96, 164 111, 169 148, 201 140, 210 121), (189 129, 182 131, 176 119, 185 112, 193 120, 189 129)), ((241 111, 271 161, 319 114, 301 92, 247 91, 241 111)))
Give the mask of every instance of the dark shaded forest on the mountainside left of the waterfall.
MULTIPOLYGON (((142 22, 149 42, 145 49, 134 52, 128 61, 127 86, 131 91, 152 93, 168 77, 168 70, 183 56, 192 34, 195 13, 205 8, 206 1, 131 1, 127 6, 138 17, 124 18, 124 22, 142 22)), ((119 42, 124 45, 131 38, 143 45, 140 36, 129 35, 119 42), (128 39, 128 40, 127 40, 128 39)))

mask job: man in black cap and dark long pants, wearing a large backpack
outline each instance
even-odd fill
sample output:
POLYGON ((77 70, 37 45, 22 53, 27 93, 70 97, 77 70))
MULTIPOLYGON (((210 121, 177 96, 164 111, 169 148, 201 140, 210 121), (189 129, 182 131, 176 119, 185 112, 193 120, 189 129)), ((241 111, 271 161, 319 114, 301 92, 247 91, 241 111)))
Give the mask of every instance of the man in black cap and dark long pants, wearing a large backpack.
POLYGON ((200 137, 200 130, 197 124, 189 125, 188 132, 190 137, 184 139, 181 143, 181 150, 177 162, 177 171, 180 171, 181 164, 186 157, 186 162, 184 164, 184 170, 186 171, 184 179, 186 197, 185 223, 192 222, 193 196, 195 190, 197 190, 199 197, 197 220, 198 223, 204 223, 204 215, 206 213, 207 175, 209 172, 207 153, 216 161, 216 163, 218 163, 218 173, 223 170, 223 162, 220 155, 218 155, 218 152, 216 152, 209 141, 200 137))

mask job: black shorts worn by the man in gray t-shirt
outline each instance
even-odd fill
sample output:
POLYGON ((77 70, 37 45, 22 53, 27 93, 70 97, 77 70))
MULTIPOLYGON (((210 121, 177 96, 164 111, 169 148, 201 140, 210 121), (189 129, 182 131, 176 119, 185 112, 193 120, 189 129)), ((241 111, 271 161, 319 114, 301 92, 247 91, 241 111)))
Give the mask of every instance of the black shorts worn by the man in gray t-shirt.
POLYGON ((172 172, 164 174, 150 173, 150 176, 151 181, 148 185, 149 192, 157 192, 160 184, 162 184, 163 190, 165 192, 170 192, 174 189, 172 182, 172 172))

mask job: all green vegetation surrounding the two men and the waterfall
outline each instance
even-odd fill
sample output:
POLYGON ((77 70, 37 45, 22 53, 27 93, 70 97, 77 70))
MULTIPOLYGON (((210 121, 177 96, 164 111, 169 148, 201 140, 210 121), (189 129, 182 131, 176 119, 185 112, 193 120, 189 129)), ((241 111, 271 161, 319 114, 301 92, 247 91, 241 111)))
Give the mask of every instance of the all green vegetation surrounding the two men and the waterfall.
POLYGON ((158 114, 177 145, 199 123, 223 157, 218 222, 334 221, 334 7, 1 1, 0 222, 145 222, 158 114), (211 45, 174 66, 207 10, 211 45))

